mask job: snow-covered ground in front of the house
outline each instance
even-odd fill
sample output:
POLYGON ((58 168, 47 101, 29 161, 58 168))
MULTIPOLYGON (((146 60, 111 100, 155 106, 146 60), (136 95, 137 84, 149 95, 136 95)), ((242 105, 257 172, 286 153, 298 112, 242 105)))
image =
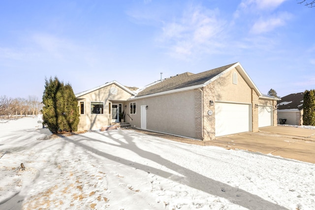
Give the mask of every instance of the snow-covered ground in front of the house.
POLYGON ((315 164, 133 130, 49 137, 0 123, 1 210, 315 209, 315 164))

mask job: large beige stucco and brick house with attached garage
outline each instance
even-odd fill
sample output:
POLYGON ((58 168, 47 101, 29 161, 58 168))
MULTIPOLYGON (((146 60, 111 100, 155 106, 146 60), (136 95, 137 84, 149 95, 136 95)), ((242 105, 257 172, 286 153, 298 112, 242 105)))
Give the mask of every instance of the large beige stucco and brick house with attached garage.
POLYGON ((137 94, 114 81, 76 97, 86 110, 79 129, 110 125, 126 110, 125 121, 132 127, 203 141, 277 125, 275 108, 280 100, 261 94, 239 62, 198 74, 178 74, 137 94), (103 111, 94 111, 100 105, 103 111))

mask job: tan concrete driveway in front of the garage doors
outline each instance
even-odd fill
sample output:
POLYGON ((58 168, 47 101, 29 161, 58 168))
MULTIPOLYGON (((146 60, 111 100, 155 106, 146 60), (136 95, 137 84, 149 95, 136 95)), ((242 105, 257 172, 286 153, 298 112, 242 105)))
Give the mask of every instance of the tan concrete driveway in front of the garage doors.
POLYGON ((240 149, 315 163, 315 130, 293 126, 270 126, 259 132, 217 137, 207 142, 227 149, 240 149))

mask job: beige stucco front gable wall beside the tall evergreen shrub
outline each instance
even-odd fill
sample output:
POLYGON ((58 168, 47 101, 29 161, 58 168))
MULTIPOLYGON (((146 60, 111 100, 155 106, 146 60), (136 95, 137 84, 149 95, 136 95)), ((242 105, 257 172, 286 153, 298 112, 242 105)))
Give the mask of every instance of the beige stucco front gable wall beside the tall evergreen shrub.
POLYGON ((112 113, 109 114, 109 103, 122 103, 123 107, 126 105, 125 101, 130 98, 131 94, 121 89, 116 84, 103 87, 93 92, 87 93, 77 98, 78 106, 80 102, 84 102, 84 114, 80 115, 78 130, 100 129, 103 126, 110 125, 112 113), (110 93, 112 87, 117 88, 117 93, 110 93), (103 102, 103 114, 91 113, 91 102, 103 102))

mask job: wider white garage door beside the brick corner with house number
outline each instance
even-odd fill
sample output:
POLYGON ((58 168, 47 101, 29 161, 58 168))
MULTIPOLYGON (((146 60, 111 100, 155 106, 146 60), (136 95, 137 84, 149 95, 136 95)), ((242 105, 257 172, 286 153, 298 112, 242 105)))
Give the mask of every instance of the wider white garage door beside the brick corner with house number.
POLYGON ((250 105, 216 102, 216 136, 250 131, 250 105))

